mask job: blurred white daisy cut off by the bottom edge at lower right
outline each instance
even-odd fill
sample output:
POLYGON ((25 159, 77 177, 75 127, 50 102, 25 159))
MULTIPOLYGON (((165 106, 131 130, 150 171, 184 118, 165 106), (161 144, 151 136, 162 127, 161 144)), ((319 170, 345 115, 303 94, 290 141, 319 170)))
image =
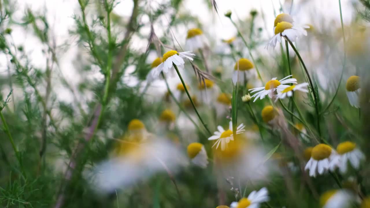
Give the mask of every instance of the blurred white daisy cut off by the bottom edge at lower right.
POLYGON ((353 202, 353 194, 346 189, 330 190, 320 196, 322 208, 349 208, 353 202))

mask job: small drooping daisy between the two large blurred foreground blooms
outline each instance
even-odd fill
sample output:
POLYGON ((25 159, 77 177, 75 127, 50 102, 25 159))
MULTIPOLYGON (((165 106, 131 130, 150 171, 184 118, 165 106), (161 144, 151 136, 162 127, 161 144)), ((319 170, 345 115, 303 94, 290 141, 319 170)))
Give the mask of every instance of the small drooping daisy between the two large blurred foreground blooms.
POLYGON ((188 156, 191 162, 201 168, 206 168, 208 165, 207 152, 203 144, 194 142, 188 145, 188 156))

